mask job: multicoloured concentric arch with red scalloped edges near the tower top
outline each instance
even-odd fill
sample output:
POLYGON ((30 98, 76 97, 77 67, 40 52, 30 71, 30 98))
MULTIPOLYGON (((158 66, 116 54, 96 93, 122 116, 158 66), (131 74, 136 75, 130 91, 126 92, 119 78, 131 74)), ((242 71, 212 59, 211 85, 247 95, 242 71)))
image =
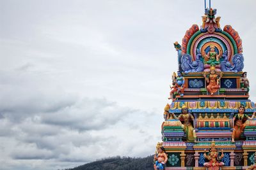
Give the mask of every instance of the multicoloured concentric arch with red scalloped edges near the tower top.
POLYGON ((242 41, 230 25, 226 25, 224 31, 212 34, 201 32, 197 25, 192 25, 182 39, 182 53, 188 53, 193 60, 196 60, 196 50, 207 53, 210 45, 214 45, 216 52, 221 54, 227 50, 228 60, 231 60, 236 53, 243 52, 242 41))

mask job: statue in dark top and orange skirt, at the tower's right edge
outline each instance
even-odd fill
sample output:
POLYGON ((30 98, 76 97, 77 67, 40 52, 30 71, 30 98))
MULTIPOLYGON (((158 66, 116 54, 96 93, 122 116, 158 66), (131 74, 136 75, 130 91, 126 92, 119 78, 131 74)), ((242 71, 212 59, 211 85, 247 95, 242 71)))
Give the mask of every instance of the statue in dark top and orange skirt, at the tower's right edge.
POLYGON ((245 108, 243 105, 239 106, 238 113, 234 115, 233 118, 233 132, 232 132, 232 142, 235 142, 235 140, 239 140, 241 133, 244 131, 244 128, 246 127, 246 120, 252 120, 255 117, 255 112, 253 112, 252 117, 249 117, 248 115, 244 114, 245 108))

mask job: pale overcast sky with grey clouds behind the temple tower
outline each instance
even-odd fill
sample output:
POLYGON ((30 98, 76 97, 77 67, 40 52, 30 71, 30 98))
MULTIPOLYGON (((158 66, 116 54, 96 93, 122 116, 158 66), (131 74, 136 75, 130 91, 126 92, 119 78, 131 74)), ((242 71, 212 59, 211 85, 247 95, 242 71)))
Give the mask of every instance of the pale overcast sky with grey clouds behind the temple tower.
MULTIPOLYGON (((254 101, 255 5, 212 1, 243 39, 254 101)), ((202 15, 203 0, 0 1, 0 169, 153 154, 173 42, 202 15)))

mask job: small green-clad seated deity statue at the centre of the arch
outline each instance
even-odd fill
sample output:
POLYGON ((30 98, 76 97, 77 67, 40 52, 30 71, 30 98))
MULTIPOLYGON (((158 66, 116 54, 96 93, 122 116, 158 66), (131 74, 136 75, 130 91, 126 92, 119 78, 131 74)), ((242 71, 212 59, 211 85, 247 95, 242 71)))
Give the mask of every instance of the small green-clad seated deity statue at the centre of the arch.
POLYGON ((205 52, 202 54, 204 58, 204 64, 210 64, 211 66, 216 66, 220 64, 221 51, 219 54, 215 52, 215 46, 210 45, 210 51, 206 54, 205 52))

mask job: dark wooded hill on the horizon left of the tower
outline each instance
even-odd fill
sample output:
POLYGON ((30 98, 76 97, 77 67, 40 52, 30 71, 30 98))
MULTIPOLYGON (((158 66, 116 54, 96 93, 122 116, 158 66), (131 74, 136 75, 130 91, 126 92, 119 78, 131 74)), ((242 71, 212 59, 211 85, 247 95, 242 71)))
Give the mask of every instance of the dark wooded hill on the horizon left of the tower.
POLYGON ((66 170, 152 170, 153 157, 154 155, 145 158, 109 157, 66 170))

